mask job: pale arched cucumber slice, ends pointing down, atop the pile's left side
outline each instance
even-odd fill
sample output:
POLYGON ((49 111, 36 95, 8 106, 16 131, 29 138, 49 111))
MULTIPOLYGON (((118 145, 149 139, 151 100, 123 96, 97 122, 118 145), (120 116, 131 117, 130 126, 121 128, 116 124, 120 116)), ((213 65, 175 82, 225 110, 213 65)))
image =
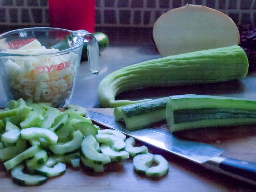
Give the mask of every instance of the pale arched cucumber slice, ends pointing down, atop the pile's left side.
POLYGON ((39 127, 30 127, 26 129, 22 129, 20 131, 20 137, 22 139, 31 139, 31 138, 44 138, 47 140, 47 142, 51 144, 56 144, 58 140, 58 136, 53 133, 52 131, 45 129, 45 128, 39 128, 39 127))

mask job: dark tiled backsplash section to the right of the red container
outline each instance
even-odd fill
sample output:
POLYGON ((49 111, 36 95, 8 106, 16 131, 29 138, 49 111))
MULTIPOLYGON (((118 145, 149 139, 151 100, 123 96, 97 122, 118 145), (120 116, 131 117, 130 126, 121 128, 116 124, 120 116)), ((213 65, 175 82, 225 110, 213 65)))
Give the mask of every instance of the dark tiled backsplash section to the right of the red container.
POLYGON ((96 26, 153 27, 161 14, 187 3, 222 11, 236 24, 256 25, 255 0, 96 0, 96 26))

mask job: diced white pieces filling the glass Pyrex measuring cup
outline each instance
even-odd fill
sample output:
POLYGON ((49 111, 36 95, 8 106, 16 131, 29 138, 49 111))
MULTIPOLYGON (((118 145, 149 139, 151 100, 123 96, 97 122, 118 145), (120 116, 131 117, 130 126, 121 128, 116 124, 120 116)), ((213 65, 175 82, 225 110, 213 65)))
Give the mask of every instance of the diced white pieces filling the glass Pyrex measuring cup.
POLYGON ((33 102, 53 103, 53 107, 71 95, 76 71, 77 54, 44 55, 57 52, 58 49, 47 49, 38 40, 19 49, 7 49, 1 53, 31 54, 30 57, 8 59, 5 63, 8 78, 7 86, 13 99, 31 99, 33 102), (36 55, 37 54, 37 55, 36 55))

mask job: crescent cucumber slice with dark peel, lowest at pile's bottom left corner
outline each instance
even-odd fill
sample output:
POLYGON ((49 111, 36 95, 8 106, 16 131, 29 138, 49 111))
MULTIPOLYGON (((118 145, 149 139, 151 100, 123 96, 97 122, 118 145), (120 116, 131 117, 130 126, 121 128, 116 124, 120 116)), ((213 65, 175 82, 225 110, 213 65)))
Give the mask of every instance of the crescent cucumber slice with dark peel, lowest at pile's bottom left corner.
POLYGON ((11 177, 14 183, 19 185, 41 185, 47 181, 42 175, 30 175, 23 172, 24 165, 18 164, 11 169, 11 177))

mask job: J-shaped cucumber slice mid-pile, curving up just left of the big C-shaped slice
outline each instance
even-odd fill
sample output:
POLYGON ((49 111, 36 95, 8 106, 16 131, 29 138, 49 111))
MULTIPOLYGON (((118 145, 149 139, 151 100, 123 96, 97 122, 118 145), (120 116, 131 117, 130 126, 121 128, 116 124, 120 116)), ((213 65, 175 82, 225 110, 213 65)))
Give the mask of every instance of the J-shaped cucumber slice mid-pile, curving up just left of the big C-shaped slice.
POLYGON ((49 146, 55 155, 70 154, 80 148, 83 141, 83 134, 79 130, 73 133, 73 139, 66 143, 57 143, 49 146))

